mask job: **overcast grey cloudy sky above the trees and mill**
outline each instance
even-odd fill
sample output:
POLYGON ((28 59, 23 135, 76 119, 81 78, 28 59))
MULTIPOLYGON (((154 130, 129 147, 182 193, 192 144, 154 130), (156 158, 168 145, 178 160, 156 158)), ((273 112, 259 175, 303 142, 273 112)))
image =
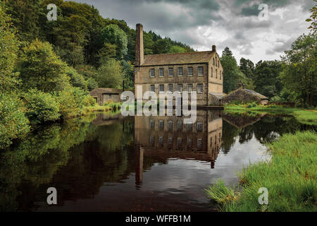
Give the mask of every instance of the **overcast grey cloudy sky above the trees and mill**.
POLYGON ((213 44, 221 55, 228 46, 238 64, 241 57, 280 59, 294 40, 308 33, 313 0, 75 0, 94 5, 104 18, 125 20, 130 28, 185 42, 199 50, 213 44), (260 4, 268 5, 268 20, 259 20, 260 4))

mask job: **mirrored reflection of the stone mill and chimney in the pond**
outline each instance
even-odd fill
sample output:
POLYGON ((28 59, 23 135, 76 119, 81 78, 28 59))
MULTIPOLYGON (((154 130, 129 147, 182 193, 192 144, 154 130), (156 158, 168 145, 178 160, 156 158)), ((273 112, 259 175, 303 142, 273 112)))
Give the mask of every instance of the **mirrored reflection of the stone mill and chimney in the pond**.
POLYGON ((220 110, 197 111, 194 124, 184 124, 185 117, 135 117, 137 181, 142 182, 142 162, 147 155, 208 161, 213 168, 222 143, 220 114, 220 110))

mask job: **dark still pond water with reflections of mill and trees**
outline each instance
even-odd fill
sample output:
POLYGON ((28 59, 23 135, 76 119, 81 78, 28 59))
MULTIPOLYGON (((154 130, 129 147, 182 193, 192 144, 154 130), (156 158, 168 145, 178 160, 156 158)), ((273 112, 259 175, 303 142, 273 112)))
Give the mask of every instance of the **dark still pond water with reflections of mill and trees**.
POLYGON ((293 117, 198 111, 182 117, 92 114, 38 128, 0 153, 0 210, 213 211, 204 189, 238 182, 264 143, 315 127, 293 117), (46 190, 57 189, 57 205, 46 190))

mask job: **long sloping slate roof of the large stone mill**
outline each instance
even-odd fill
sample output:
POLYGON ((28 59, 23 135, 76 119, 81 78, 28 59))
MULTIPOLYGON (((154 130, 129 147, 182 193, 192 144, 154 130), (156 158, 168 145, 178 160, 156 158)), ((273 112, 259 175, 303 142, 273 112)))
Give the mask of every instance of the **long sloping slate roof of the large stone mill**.
POLYGON ((141 66, 207 63, 210 61, 213 53, 215 52, 203 51, 146 55, 144 56, 144 63, 141 66))

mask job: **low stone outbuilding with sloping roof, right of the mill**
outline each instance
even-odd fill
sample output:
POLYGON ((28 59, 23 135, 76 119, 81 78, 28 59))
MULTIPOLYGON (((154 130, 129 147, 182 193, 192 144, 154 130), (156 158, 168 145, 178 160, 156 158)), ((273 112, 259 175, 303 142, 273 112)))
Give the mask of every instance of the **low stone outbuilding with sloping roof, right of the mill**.
POLYGON ((232 101, 240 102, 258 102, 260 105, 268 104, 268 97, 256 93, 254 90, 247 90, 244 88, 238 88, 237 90, 228 93, 225 97, 221 99, 221 104, 229 103, 232 101))

